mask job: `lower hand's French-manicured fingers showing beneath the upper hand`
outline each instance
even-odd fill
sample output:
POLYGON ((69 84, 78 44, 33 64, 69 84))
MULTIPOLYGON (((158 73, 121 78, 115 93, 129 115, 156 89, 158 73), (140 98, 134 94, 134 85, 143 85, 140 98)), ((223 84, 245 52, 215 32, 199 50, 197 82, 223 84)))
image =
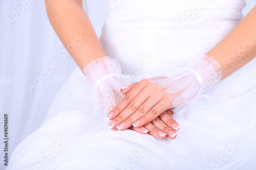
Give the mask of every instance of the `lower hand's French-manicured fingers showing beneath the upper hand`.
POLYGON ((140 128, 135 128, 132 126, 130 127, 130 129, 141 134, 150 134, 151 136, 159 139, 164 139, 166 136, 169 139, 175 139, 177 136, 177 133, 175 131, 179 130, 180 126, 170 116, 170 114, 172 114, 172 111, 166 110, 160 116, 155 118, 152 122, 147 123, 140 128))

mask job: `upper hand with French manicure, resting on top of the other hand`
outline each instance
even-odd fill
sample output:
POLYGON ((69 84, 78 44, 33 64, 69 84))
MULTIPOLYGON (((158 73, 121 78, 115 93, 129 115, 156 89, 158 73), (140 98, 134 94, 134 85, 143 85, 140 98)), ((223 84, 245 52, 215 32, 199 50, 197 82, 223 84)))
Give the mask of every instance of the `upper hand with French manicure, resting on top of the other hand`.
POLYGON ((165 110, 172 108, 172 102, 164 91, 165 89, 158 89, 147 79, 122 89, 121 92, 127 94, 106 116, 112 120, 109 126, 125 130, 132 125, 139 128, 151 122, 165 110))

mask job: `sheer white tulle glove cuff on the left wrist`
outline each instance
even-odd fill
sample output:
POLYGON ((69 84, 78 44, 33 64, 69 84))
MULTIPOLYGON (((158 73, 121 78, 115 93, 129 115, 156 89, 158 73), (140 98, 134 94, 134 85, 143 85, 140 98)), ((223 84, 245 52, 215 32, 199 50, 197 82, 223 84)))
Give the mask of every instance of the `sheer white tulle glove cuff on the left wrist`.
POLYGON ((131 85, 131 77, 122 75, 117 59, 101 57, 83 68, 100 100, 104 113, 109 113, 124 97, 121 87, 131 85))

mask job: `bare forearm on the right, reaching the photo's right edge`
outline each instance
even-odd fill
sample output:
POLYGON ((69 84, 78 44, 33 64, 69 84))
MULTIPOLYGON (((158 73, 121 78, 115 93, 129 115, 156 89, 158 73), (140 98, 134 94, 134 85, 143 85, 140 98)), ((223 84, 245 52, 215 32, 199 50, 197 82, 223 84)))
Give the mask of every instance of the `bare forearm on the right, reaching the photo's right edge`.
POLYGON ((256 56, 256 7, 206 55, 222 67, 222 79, 231 75, 256 56))

